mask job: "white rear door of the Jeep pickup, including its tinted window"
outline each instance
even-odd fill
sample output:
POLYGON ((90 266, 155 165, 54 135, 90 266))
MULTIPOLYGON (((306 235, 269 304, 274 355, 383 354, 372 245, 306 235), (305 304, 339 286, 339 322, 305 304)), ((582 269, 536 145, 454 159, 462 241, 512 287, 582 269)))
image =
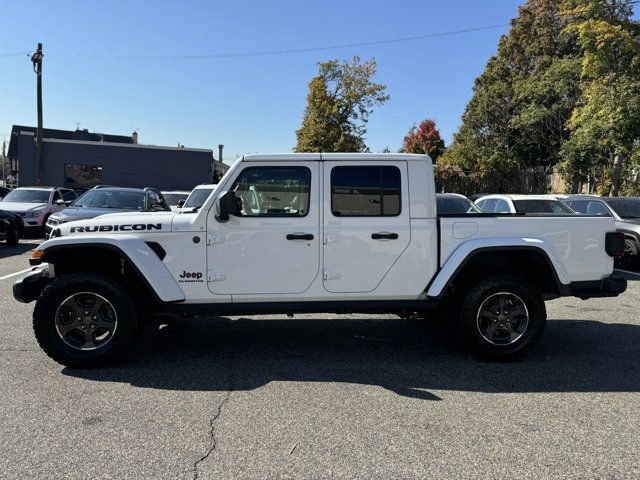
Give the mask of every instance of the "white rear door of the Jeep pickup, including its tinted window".
POLYGON ((371 292, 411 240, 407 163, 323 164, 324 287, 371 292))

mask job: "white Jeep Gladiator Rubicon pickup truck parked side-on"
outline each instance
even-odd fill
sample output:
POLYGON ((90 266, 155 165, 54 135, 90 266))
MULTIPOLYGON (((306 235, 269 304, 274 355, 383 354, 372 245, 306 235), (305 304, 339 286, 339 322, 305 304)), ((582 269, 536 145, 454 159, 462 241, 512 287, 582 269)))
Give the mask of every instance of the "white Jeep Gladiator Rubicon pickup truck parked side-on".
POLYGON ((431 160, 247 155, 199 209, 58 226, 14 285, 44 351, 68 366, 131 350, 142 319, 447 309, 470 349, 507 359, 545 300, 616 296, 624 237, 587 215, 438 216, 431 160))

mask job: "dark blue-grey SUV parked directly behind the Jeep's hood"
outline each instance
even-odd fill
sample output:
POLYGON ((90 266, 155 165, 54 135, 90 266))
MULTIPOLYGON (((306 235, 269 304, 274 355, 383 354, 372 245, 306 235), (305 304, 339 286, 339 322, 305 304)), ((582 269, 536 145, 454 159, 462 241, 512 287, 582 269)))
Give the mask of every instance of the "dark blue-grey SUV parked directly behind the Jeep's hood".
POLYGON ((121 212, 170 212, 160 193, 153 188, 124 188, 98 186, 87 190, 73 204, 63 211, 54 213, 45 225, 45 236, 62 223, 86 220, 107 213, 121 212))

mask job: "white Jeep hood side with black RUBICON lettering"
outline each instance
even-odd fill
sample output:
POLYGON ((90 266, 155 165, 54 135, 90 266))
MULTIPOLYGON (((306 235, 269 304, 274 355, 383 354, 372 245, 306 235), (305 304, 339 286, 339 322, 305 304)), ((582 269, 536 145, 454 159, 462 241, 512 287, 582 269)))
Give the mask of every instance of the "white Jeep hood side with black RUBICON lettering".
POLYGON ((92 219, 74 220, 58 228, 62 236, 83 234, 131 234, 171 231, 171 212, 136 212, 100 215, 92 219))

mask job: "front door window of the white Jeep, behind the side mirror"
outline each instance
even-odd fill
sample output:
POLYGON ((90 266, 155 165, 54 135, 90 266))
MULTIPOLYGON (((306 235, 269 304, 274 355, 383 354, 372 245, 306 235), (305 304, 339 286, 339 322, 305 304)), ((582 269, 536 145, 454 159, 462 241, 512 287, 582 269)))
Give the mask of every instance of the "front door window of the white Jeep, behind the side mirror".
POLYGON ((311 170, 306 167, 249 167, 231 187, 244 217, 304 217, 309 213, 311 170))

